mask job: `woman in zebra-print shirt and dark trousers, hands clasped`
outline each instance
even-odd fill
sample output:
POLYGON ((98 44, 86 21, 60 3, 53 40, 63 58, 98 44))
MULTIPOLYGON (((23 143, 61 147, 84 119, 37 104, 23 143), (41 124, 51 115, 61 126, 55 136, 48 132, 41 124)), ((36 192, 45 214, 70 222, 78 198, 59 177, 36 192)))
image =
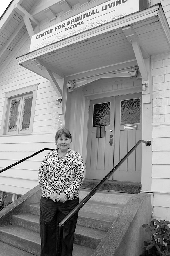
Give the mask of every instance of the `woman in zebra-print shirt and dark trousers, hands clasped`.
MULTIPOLYGON (((70 149, 72 136, 62 128, 56 133, 57 149, 49 152, 38 171, 40 199, 41 256, 56 255, 57 227, 79 203, 79 188, 84 179, 81 155, 70 149)), ((64 226, 62 255, 72 255, 78 213, 64 226)))

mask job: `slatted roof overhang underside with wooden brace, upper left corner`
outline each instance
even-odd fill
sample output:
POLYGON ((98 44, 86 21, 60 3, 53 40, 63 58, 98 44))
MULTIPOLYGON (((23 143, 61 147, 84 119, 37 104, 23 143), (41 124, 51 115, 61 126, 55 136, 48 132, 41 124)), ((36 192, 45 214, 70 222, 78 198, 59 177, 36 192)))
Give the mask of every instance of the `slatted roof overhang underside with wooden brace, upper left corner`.
POLYGON ((0 20, 1 31, 1 72, 8 64, 10 56, 28 30, 30 35, 34 34, 31 22, 37 25, 37 21, 29 14, 33 9, 36 0, 14 0, 10 3, 0 20), (17 9, 17 12, 16 12, 17 9), (29 17, 29 18, 28 18, 29 17), (30 22, 30 19, 32 20, 30 22), (24 22, 25 21, 25 22, 24 22), (26 28, 27 27, 27 28, 26 28))

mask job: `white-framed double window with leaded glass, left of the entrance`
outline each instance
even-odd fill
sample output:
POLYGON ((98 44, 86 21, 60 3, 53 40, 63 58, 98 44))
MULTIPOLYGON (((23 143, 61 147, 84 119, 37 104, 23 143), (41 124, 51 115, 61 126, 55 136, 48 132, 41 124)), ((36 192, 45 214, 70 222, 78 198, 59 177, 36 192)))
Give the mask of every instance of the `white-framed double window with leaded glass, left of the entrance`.
POLYGON ((0 136, 32 133, 37 89, 35 84, 5 92, 0 136))

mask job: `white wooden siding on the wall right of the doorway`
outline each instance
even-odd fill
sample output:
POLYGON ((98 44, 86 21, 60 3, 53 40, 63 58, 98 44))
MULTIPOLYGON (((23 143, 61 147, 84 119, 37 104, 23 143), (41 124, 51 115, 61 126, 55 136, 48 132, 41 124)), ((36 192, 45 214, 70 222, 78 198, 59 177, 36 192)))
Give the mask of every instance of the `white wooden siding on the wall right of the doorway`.
MULTIPOLYGON (((162 5, 167 1, 161 1, 162 5)), ((167 4, 166 10, 169 8, 167 4)), ((165 14, 166 15, 166 14, 165 14)), ((170 54, 152 57, 152 218, 170 220, 170 54)))

